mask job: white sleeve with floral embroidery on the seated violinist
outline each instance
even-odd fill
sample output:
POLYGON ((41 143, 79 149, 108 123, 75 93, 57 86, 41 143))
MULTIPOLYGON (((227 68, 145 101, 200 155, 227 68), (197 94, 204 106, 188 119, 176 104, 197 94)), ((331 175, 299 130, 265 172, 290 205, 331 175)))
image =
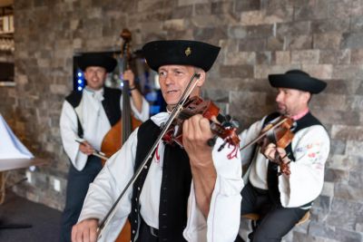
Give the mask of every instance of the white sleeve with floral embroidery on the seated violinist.
POLYGON ((323 126, 314 125, 298 131, 291 145, 295 157, 289 163, 291 174, 279 178, 280 201, 285 208, 303 206, 319 196, 330 140, 323 126))

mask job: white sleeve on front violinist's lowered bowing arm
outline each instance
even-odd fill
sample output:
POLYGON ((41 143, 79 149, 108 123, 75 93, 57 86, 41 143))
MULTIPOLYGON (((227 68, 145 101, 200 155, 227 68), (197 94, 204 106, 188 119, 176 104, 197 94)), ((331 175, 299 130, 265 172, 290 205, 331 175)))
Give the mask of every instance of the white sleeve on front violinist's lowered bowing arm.
MULTIPOLYGON (((90 184, 78 221, 86 218, 98 218, 101 222, 114 201, 120 196, 125 185, 132 178, 137 145, 137 131, 132 132, 123 148, 106 161, 103 169, 90 184), (122 172, 123 176, 120 176, 122 172)), ((103 236, 98 241, 114 241, 123 228, 131 212, 132 187, 127 189, 113 218, 103 229, 103 236)))

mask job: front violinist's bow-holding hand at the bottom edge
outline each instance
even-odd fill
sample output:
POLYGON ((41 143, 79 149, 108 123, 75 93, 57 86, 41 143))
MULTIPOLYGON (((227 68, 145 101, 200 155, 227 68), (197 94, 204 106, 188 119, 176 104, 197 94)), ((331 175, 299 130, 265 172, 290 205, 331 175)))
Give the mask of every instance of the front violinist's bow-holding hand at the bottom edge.
POLYGON ((98 219, 89 218, 72 227, 72 242, 96 242, 98 219))

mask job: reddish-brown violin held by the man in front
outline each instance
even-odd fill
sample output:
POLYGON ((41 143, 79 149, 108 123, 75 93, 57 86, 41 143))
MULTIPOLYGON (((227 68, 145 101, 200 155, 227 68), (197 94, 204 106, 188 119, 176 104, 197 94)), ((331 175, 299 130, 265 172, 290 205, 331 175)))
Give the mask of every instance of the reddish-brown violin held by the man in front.
MULTIPOLYGON (((162 140, 167 144, 178 144, 182 145, 182 123, 185 120, 191 118, 191 116, 196 114, 201 114, 204 118, 211 121, 211 117, 217 117, 219 115, 220 109, 211 101, 203 101, 201 98, 194 96, 191 97, 183 105, 182 111, 180 111, 178 117, 172 121, 171 126, 166 131, 162 140)), ((236 125, 230 121, 223 121, 221 124, 211 121, 211 131, 215 135, 215 138, 221 137, 224 140, 223 144, 219 150, 229 143, 234 146, 238 146, 240 139, 236 133, 236 125)), ((215 140, 215 139, 214 139, 215 140)), ((213 140, 209 142, 209 145, 214 145, 213 140)))

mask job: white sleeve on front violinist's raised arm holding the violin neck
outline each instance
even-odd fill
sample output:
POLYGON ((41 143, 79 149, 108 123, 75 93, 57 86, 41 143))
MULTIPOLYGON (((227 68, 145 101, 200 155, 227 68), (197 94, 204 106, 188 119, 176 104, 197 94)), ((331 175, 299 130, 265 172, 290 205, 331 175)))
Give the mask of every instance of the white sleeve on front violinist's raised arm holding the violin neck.
POLYGON ((217 179, 211 196, 208 218, 197 207, 193 183, 188 201, 188 222, 183 235, 188 241, 234 241, 240 227, 241 164, 239 147, 226 146, 218 151, 223 141, 217 139, 212 158, 217 179))

